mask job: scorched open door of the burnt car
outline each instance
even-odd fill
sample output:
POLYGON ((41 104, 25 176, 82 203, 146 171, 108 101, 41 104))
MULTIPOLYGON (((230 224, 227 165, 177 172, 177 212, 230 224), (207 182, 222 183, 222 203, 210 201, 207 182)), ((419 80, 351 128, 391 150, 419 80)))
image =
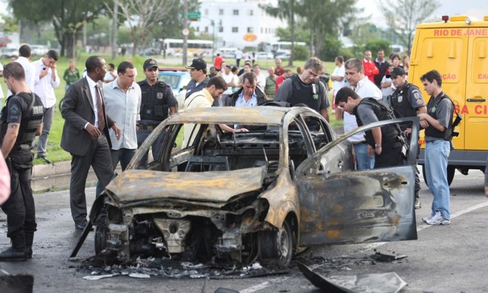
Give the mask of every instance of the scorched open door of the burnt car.
POLYGON ((417 239, 414 185, 418 129, 417 117, 376 122, 340 137, 305 160, 296 172, 300 245, 417 239), (355 133, 405 121, 413 124, 414 133, 405 166, 334 173, 321 160, 329 152, 337 152, 336 148, 355 133))

